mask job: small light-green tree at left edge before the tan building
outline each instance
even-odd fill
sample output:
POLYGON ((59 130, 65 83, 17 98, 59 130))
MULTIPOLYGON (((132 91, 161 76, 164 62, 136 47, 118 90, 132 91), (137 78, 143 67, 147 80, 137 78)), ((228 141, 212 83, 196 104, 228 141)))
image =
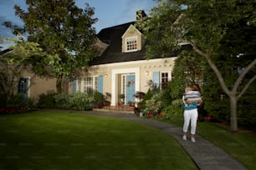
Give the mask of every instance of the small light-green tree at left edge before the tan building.
MULTIPOLYGON (((1 52, 0 55, 0 89, 3 95, 10 99, 15 94, 21 72, 26 67, 31 67, 31 58, 45 56, 43 49, 35 42, 23 42, 22 39, 10 39, 15 46, 1 52)), ((32 70, 35 66, 32 65, 32 70)))

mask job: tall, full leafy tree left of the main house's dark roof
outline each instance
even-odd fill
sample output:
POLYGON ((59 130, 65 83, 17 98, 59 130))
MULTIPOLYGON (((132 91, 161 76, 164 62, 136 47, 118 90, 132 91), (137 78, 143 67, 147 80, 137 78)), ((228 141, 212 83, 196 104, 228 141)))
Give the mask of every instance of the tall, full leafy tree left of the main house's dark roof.
POLYGON ((81 9, 74 0, 27 0, 28 12, 15 6, 16 15, 23 20, 24 28, 6 22, 13 33, 26 32, 28 42, 37 42, 47 54, 44 57, 32 58, 36 66, 34 71, 39 74, 48 71, 57 78, 58 92, 63 92, 63 83, 67 78, 74 77, 80 68, 86 68, 95 57, 95 28, 97 21, 92 18, 94 8, 85 3, 81 9), (50 67, 50 71, 49 71, 50 67))

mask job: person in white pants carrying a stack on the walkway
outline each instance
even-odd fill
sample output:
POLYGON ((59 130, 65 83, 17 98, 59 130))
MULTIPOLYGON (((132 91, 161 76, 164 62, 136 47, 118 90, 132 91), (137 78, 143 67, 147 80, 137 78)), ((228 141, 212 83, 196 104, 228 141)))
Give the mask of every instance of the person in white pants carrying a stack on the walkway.
POLYGON ((197 102, 193 102, 190 100, 190 97, 200 97, 201 94, 198 91, 192 91, 192 87, 186 87, 186 93, 182 96, 182 100, 184 102, 184 124, 183 124, 183 140, 187 140, 187 129, 189 123, 191 122, 191 141, 192 143, 196 143, 195 134, 197 128, 197 105, 200 105, 202 100, 198 100, 197 102))

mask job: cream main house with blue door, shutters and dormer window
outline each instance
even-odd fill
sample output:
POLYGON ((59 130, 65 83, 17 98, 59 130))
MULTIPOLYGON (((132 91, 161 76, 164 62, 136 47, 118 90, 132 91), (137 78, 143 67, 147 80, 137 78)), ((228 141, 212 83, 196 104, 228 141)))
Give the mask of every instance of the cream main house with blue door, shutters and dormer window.
POLYGON ((172 81, 177 52, 170 53, 170 57, 146 60, 146 39, 135 22, 104 28, 98 38, 100 55, 95 57, 89 72, 81 72, 70 82, 69 93, 96 90, 109 97, 111 106, 117 106, 120 94, 125 94, 125 104, 136 102, 134 94, 146 93, 148 82, 163 88, 172 81))

